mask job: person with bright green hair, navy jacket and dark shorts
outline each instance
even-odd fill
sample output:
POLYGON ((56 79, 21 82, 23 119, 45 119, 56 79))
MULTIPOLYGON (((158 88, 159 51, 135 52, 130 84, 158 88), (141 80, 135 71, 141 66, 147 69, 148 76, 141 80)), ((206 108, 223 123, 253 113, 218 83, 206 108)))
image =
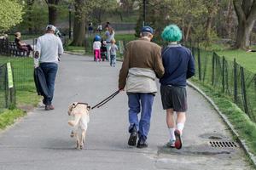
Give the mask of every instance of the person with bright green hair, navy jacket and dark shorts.
POLYGON ((178 43, 182 39, 182 31, 176 25, 166 26, 161 37, 168 42, 168 46, 162 50, 165 74, 160 78, 162 105, 166 110, 166 123, 170 132, 167 145, 179 150, 182 148, 181 136, 188 109, 186 80, 195 75, 195 60, 189 48, 178 43), (177 113, 176 120, 174 112, 177 113))

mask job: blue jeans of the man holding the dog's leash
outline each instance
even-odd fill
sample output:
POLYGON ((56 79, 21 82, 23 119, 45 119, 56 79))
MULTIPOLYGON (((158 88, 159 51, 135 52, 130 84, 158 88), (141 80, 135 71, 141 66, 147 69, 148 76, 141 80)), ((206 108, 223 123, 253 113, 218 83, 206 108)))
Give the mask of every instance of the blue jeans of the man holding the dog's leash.
POLYGON ((129 105, 129 132, 131 128, 136 126, 140 139, 146 140, 150 127, 150 118, 152 105, 154 102, 153 94, 131 93, 128 94, 129 105), (141 111, 142 110, 142 111, 141 111), (141 112, 141 118, 138 119, 138 114, 141 112))

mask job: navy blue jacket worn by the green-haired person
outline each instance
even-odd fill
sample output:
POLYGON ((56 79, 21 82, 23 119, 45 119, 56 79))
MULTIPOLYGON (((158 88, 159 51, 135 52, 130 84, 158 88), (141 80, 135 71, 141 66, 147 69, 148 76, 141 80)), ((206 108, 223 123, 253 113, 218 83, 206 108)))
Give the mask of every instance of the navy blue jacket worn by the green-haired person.
POLYGON ((165 74, 162 85, 186 87, 186 80, 195 75, 195 59, 189 48, 179 44, 168 45, 162 51, 165 74))

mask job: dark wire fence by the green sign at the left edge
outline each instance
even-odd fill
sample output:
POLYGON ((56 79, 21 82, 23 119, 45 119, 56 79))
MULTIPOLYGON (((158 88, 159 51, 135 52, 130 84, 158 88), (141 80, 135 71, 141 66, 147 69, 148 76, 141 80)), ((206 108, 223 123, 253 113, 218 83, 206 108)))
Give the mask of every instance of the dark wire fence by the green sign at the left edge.
POLYGON ((0 110, 15 105, 15 86, 9 87, 9 76, 7 64, 0 64, 0 110))

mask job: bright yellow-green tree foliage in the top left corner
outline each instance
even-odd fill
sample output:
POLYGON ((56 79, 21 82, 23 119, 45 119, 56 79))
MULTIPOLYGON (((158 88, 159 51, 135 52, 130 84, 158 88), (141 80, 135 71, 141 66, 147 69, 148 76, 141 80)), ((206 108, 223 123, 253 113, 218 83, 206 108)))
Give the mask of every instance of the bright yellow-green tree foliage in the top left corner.
POLYGON ((16 0, 1 0, 0 7, 0 33, 22 21, 23 6, 16 0))

